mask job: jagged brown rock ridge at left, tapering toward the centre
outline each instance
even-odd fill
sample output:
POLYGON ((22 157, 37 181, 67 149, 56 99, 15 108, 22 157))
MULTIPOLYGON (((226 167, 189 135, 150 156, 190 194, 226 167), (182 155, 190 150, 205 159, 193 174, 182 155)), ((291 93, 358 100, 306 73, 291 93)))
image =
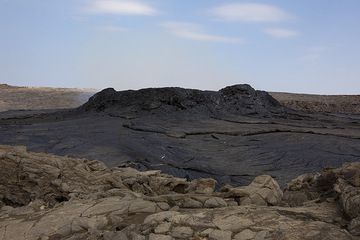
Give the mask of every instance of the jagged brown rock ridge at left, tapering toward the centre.
POLYGON ((211 180, 187 182, 160 171, 109 169, 99 161, 30 154, 24 147, 0 147, 0 165, 0 182, 3 183, 0 185, 0 199, 13 207, 25 206, 34 200, 52 207, 71 198, 111 196, 113 189, 158 196, 212 193, 215 186, 211 180))

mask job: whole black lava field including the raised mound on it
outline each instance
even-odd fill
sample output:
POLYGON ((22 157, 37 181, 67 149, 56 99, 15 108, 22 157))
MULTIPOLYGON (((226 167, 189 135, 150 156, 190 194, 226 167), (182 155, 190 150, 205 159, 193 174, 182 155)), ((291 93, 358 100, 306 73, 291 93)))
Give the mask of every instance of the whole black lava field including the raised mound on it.
POLYGON ((0 114, 0 143, 243 185, 281 184, 360 159, 360 116, 282 107, 249 85, 219 91, 105 89, 83 106, 0 114))

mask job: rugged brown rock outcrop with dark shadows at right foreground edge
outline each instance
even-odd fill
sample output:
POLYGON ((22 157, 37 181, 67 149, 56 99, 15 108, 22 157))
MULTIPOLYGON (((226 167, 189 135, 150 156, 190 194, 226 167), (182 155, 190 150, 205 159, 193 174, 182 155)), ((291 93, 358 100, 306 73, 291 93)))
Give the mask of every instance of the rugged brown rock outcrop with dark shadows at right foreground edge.
POLYGON ((360 236, 360 162, 302 175, 288 184, 283 200, 290 206, 337 201, 348 230, 360 236))

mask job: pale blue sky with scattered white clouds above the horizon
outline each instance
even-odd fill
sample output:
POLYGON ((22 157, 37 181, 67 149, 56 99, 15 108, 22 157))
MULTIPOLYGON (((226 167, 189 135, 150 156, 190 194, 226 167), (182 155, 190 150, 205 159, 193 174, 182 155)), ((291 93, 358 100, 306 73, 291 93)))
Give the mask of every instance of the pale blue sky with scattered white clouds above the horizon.
POLYGON ((0 0, 0 83, 360 94, 359 0, 0 0))

